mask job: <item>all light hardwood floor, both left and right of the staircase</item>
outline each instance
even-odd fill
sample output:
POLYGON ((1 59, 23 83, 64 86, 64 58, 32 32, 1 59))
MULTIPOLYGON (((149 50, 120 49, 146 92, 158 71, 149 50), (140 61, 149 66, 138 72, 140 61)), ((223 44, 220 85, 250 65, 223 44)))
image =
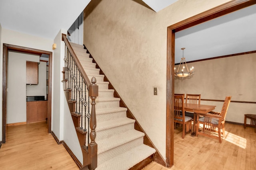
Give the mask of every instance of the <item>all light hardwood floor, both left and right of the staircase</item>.
MULTIPOLYGON (((143 170, 256 170, 256 133, 253 127, 226 123, 226 138, 182 139, 174 131, 174 166, 152 162, 143 170)), ((45 122, 7 127, 7 143, 0 149, 1 170, 78 170, 63 145, 47 133, 45 122)))

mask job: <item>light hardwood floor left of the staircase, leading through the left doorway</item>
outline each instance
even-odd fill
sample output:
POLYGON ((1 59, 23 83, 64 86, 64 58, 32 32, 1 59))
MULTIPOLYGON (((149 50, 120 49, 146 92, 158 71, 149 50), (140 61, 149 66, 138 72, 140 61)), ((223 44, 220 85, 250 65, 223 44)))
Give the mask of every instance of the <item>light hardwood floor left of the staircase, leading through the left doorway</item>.
POLYGON ((47 123, 7 127, 0 149, 1 170, 79 170, 63 145, 47 133, 47 123))

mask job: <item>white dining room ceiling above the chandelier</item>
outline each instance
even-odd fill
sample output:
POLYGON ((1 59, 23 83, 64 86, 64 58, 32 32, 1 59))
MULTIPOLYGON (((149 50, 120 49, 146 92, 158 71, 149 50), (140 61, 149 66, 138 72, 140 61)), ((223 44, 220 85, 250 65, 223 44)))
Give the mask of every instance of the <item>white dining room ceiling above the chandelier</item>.
POLYGON ((256 5, 175 34, 175 63, 256 50, 256 5))

